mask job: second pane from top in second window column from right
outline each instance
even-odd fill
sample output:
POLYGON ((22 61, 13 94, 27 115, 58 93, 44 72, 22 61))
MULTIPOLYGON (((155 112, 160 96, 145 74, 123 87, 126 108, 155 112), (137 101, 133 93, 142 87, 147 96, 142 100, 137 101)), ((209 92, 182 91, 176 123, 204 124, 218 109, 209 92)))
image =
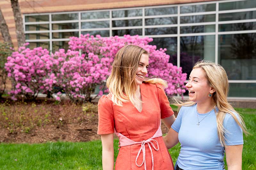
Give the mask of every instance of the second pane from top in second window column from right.
POLYGON ((215 21, 215 14, 180 17, 181 24, 197 23, 197 22, 214 22, 214 21, 215 21))

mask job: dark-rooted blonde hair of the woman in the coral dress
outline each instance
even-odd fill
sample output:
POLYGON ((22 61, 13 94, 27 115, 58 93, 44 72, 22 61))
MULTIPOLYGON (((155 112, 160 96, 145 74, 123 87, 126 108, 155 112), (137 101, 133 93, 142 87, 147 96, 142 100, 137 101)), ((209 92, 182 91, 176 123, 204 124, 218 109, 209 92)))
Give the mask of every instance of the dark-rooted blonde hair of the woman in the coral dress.
MULTIPOLYGON (((135 101, 139 100, 135 95, 135 76, 142 54, 148 55, 148 52, 134 45, 126 45, 116 53, 112 71, 107 79, 107 87, 114 104, 123 106, 123 102, 131 101, 134 105, 135 101)), ((167 86, 167 82, 160 78, 146 78, 143 82, 167 86)))

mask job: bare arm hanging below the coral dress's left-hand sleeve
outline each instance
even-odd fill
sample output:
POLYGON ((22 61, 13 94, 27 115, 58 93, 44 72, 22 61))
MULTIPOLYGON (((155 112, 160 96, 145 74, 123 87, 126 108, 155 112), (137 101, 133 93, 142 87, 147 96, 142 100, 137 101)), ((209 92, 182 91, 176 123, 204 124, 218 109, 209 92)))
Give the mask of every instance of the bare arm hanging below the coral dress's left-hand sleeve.
POLYGON ((114 135, 101 135, 102 142, 102 167, 103 170, 114 169, 114 135))

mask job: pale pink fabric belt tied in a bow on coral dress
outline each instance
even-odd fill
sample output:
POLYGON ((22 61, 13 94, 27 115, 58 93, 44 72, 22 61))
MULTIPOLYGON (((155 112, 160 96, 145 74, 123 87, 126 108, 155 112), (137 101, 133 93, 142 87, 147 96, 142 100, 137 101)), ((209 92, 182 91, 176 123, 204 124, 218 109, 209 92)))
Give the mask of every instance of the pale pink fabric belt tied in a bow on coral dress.
POLYGON ((125 136, 122 135, 121 133, 116 132, 116 129, 114 129, 114 131, 115 131, 115 134, 116 134, 116 135, 118 136, 118 138, 119 138, 120 146, 128 146, 128 145, 132 145, 132 144, 141 144, 141 147, 140 147, 140 150, 139 150, 139 152, 138 152, 138 154, 137 154, 135 163, 136 163, 136 165, 139 166, 139 167, 142 166, 143 163, 144 163, 144 170, 147 170, 147 167, 146 167, 146 158, 145 158, 145 155, 146 155, 146 152, 145 152, 145 144, 148 144, 148 147, 149 147, 149 149, 150 149, 150 151, 151 151, 152 170, 154 170, 154 156, 153 156, 153 152, 152 152, 151 146, 152 146, 156 151, 159 150, 158 142, 157 142, 156 140, 154 140, 154 138, 163 136, 162 130, 161 130, 161 122, 160 122, 160 126, 159 126, 158 129, 156 130, 156 133, 155 133, 152 137, 150 137, 149 139, 143 140, 143 141, 141 141, 141 142, 135 142, 135 141, 129 139, 128 137, 125 137, 125 136), (157 147, 153 144, 153 141, 156 142, 156 144, 157 144, 156 146, 157 146, 157 147), (151 146, 150 146, 150 145, 151 145, 151 146), (137 164, 137 159, 138 159, 138 157, 140 156, 141 151, 142 151, 142 155, 143 155, 143 160, 142 160, 141 165, 138 165, 138 164, 137 164))

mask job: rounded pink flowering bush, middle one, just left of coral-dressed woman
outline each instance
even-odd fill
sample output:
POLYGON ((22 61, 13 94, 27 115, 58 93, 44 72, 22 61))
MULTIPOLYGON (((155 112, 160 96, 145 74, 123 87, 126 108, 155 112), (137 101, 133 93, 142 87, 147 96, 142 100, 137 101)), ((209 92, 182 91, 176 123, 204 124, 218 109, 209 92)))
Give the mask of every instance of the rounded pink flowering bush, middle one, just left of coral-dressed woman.
POLYGON ((69 60, 63 63, 57 76, 61 87, 73 102, 91 101, 95 87, 106 80, 107 65, 93 53, 80 56, 78 51, 68 50, 67 55, 69 60))

